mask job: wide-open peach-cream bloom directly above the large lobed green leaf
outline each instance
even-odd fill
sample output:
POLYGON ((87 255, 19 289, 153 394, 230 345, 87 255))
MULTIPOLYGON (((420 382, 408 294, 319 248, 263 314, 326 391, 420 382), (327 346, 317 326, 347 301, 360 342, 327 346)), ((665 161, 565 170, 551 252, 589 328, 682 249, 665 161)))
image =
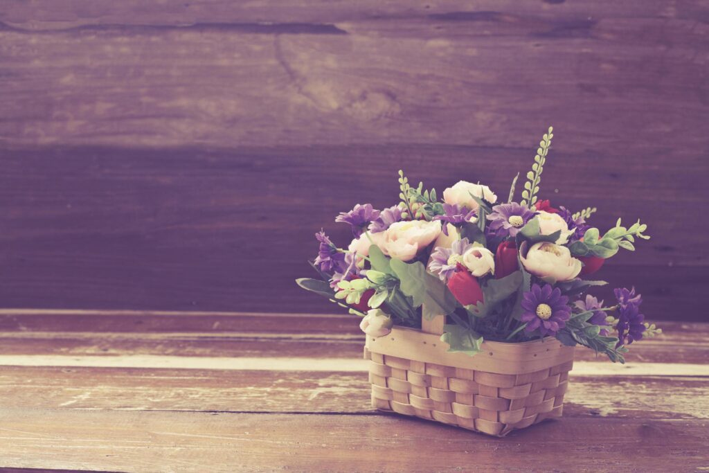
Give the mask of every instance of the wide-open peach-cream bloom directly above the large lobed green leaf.
POLYGON ((440 233, 440 221, 414 220, 392 223, 384 233, 374 233, 374 235, 381 235, 375 243, 384 255, 401 261, 410 261, 438 238, 440 233))

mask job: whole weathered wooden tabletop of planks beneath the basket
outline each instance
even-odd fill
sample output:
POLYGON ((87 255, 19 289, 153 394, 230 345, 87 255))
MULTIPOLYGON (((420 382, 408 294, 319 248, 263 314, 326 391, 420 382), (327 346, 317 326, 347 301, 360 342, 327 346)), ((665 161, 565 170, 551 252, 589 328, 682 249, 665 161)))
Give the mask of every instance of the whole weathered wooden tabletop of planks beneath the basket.
POLYGON ((351 316, 0 312, 0 466, 146 472, 709 469, 709 325, 578 350, 506 438, 378 413, 351 316))

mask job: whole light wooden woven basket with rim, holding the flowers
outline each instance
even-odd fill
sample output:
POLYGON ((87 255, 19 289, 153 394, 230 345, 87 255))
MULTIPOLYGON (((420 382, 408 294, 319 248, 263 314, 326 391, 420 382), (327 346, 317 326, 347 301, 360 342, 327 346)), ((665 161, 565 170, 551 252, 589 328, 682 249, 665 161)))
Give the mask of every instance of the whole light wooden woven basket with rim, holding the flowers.
POLYGON ((547 337, 486 341, 472 357, 449 353, 437 333, 442 317, 436 319, 423 330, 395 327, 367 337, 375 408, 498 437, 562 415, 574 347, 547 337))

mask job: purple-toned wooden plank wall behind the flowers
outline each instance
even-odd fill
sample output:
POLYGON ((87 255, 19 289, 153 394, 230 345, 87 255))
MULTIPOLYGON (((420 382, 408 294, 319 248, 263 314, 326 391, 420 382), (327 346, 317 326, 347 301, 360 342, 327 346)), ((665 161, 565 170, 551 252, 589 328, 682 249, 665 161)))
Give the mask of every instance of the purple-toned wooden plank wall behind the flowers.
MULTIPOLYGON (((705 320, 707 1, 0 2, 0 305, 336 311, 325 228, 396 170, 653 235, 603 276, 705 320)), ((608 294, 608 291, 605 291, 608 294)))

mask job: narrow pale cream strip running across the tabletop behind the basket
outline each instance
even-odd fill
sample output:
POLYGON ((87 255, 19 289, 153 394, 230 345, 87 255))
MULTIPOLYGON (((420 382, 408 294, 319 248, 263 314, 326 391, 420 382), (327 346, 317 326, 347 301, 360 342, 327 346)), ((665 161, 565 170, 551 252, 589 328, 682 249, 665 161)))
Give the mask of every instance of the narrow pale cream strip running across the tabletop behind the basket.
MULTIPOLYGON (((179 357, 167 355, 71 356, 0 355, 0 366, 222 369, 303 372, 366 372, 367 360, 306 357, 179 357)), ((686 363, 574 363, 574 376, 709 377, 709 365, 686 363)))

